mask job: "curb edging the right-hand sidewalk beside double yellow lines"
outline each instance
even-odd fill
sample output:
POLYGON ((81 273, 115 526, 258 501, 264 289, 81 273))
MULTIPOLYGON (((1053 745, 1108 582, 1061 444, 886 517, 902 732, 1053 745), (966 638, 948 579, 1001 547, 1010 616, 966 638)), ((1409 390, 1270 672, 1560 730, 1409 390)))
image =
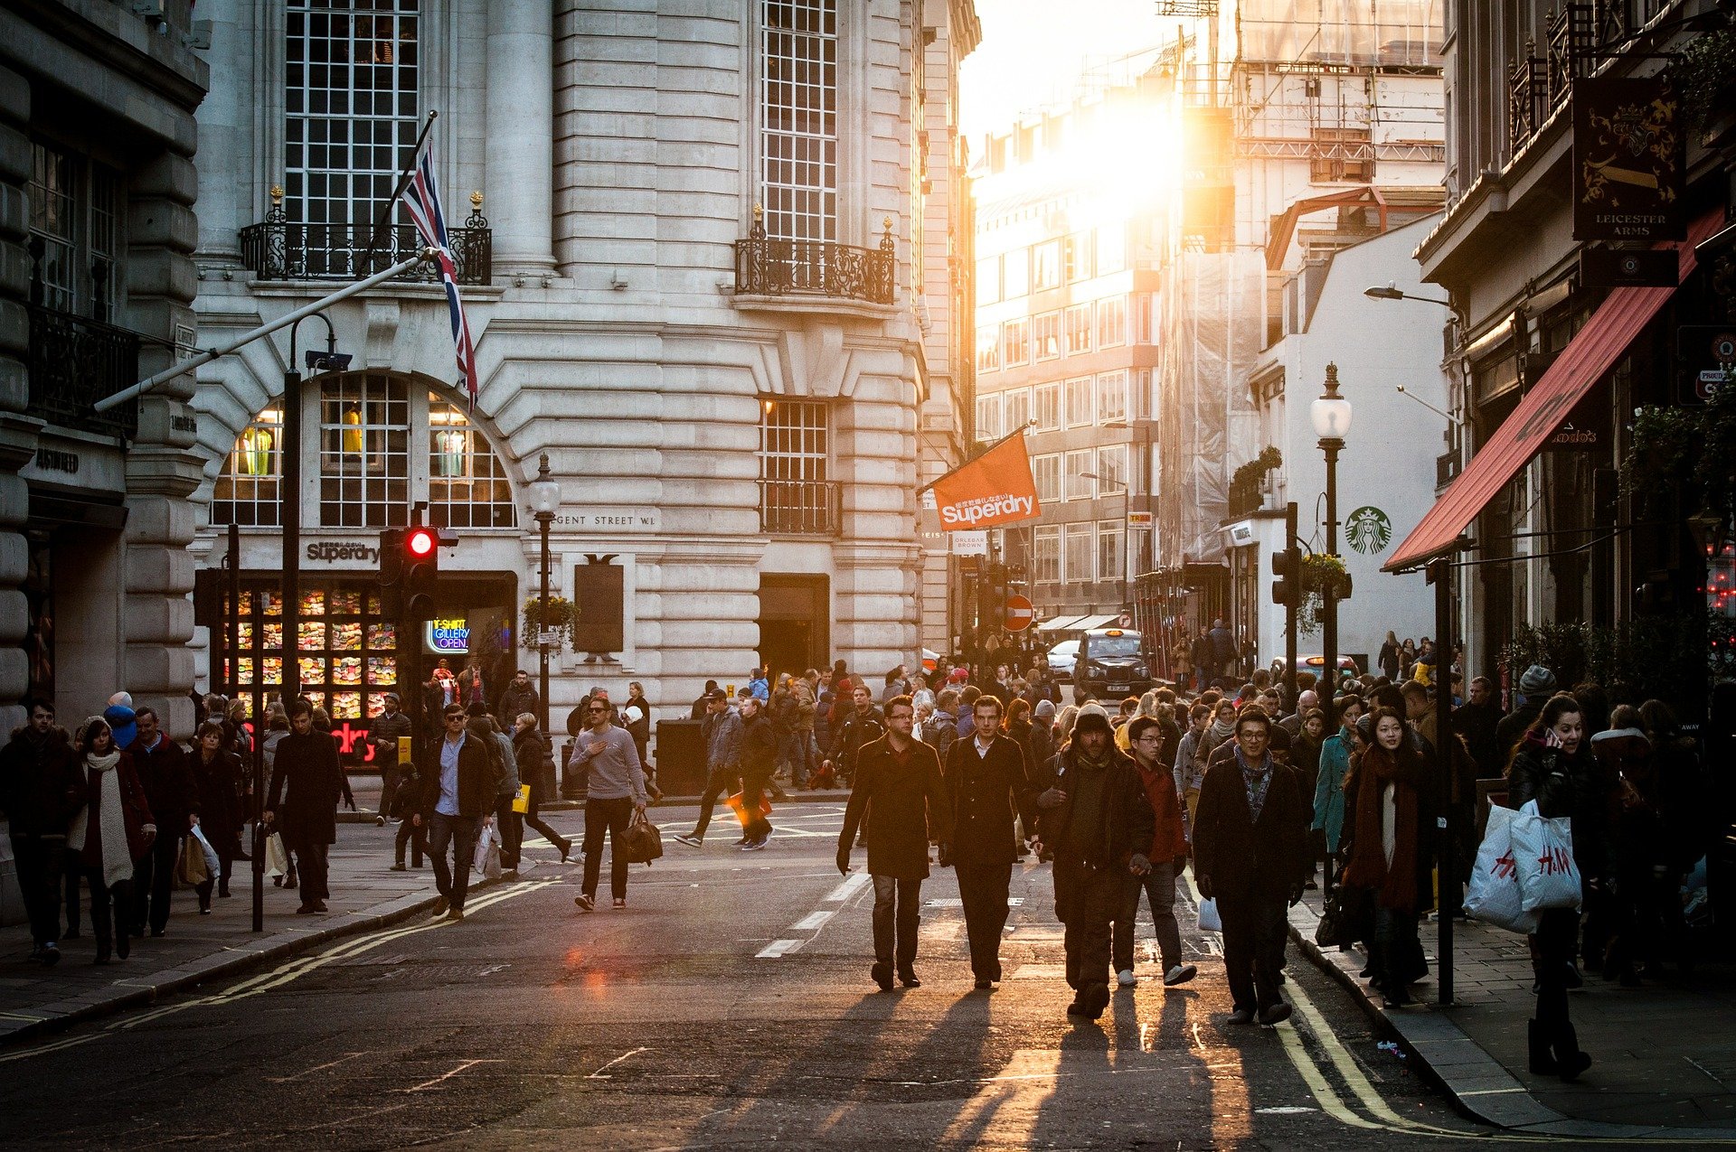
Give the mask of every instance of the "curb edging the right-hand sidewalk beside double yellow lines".
MULTIPOLYGON (((1576 1140, 1672 1140, 1719 1142, 1736 1140, 1731 1128, 1668 1128, 1654 1124, 1611 1124, 1580 1121, 1550 1109, 1477 1041, 1465 1034, 1453 1018, 1436 1005, 1387 1010, 1356 975, 1361 972, 1361 951, 1340 952, 1323 949, 1314 942, 1319 914, 1307 904, 1290 909, 1290 939, 1328 977, 1337 980, 1361 1006, 1377 1027, 1397 1037, 1399 1046, 1415 1067, 1441 1088, 1462 1116, 1509 1131, 1576 1140)), ((1430 963, 1439 959, 1430 951, 1430 963)))

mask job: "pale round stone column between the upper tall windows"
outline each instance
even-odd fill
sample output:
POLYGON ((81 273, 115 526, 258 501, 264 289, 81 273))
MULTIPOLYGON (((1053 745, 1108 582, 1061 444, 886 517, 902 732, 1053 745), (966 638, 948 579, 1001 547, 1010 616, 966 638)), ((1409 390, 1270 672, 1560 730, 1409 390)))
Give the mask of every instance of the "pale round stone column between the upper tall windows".
POLYGON ((554 271, 554 5, 488 5, 488 219, 495 272, 554 271))

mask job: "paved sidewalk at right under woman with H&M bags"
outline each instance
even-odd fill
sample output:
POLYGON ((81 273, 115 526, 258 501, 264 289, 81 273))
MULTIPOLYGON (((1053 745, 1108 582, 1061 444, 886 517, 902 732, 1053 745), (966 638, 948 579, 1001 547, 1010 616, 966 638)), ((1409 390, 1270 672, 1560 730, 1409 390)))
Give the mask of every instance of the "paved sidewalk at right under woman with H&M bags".
POLYGON ((1526 939, 1483 923, 1457 921, 1451 1008, 1437 1008, 1437 925, 1422 925, 1430 975, 1413 991, 1415 1008, 1387 1011, 1358 979, 1366 956, 1314 944, 1321 893, 1290 909, 1299 951, 1363 998, 1458 1107, 1491 1124, 1562 1136, 1639 1140, 1736 1138, 1736 977, 1703 965, 1680 977, 1625 989, 1597 973, 1571 992, 1580 1046, 1594 1058, 1578 1083, 1526 1069, 1531 958, 1526 939))

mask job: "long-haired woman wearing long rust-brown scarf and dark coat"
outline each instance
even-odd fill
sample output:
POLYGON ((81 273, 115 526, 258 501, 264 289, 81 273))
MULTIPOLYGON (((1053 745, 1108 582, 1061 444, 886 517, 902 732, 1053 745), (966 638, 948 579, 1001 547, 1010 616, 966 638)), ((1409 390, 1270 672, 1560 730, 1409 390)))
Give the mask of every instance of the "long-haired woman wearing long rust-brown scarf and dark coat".
MULTIPOLYGON (((1429 850, 1424 838, 1425 803, 1422 755, 1391 708, 1373 713, 1373 744, 1363 753, 1356 788, 1356 826, 1344 881, 1375 897, 1375 937, 1370 940, 1371 987, 1387 1008, 1415 1003, 1410 984, 1422 973, 1417 958, 1417 914, 1429 899, 1429 850)), ((1425 966, 1424 966, 1425 968, 1425 966)))

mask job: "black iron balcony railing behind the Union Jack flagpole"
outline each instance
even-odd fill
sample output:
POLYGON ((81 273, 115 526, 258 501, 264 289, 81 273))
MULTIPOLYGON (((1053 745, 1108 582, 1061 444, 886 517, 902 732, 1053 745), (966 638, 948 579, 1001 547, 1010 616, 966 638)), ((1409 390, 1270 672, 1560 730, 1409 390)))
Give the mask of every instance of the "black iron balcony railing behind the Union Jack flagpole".
MULTIPOLYGON (((479 201, 476 198, 472 203, 479 201)), ((464 227, 448 232, 460 285, 486 285, 493 278, 495 232, 481 210, 464 227)), ((422 238, 410 224, 380 229, 373 245, 372 224, 295 224, 273 205, 264 224, 241 229, 241 267, 260 279, 361 279, 382 272, 422 252, 422 238)), ((394 279, 439 283, 432 264, 418 264, 394 279)))

